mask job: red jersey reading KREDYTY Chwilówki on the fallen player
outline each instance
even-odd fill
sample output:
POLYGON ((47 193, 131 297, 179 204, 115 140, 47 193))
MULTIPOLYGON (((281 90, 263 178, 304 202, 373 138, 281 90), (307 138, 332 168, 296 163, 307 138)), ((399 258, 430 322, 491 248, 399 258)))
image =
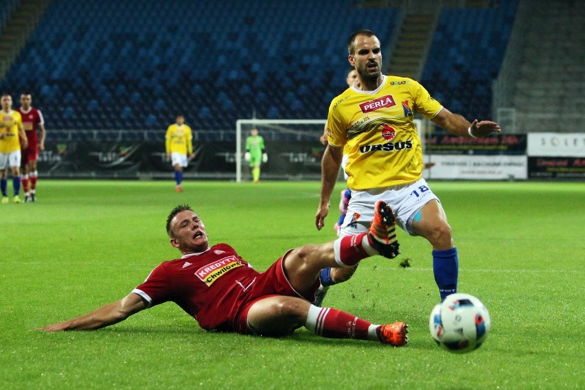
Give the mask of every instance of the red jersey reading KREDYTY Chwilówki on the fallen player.
POLYGON ((233 321, 260 275, 228 244, 154 268, 133 292, 158 305, 173 301, 205 330, 236 330, 233 321))

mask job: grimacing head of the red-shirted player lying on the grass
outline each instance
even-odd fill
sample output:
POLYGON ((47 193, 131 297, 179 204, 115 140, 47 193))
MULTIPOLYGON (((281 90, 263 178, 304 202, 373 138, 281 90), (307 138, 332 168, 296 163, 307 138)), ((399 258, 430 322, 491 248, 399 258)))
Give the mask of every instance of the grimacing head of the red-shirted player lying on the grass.
POLYGON ((171 245, 181 253, 203 252, 209 246, 207 230, 201 218, 191 210, 181 211, 171 221, 174 238, 171 245))

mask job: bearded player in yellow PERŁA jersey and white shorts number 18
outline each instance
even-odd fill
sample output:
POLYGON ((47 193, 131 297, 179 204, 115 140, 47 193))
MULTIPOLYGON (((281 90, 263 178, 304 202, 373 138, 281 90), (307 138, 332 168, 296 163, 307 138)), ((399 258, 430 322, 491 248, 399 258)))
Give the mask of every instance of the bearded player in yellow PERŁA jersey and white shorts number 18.
MULTIPOLYGON (((496 122, 467 119, 448 111, 415 80, 384 76, 380 41, 369 30, 347 41, 349 64, 358 82, 332 100, 328 147, 321 161, 321 200, 315 225, 323 228, 341 165, 349 148, 345 172, 352 190, 342 236, 367 231, 377 200, 392 207, 396 223, 411 236, 422 236, 433 246, 433 271, 441 299, 457 292, 459 260, 445 211, 422 178, 422 150, 413 112, 461 137, 483 137, 501 131, 496 122)), ((391 237, 396 241, 395 236, 391 237)), ((398 255, 398 242, 395 255, 398 255)), ((332 270, 334 281, 351 277, 354 268, 332 270), (338 272, 339 271, 339 272, 338 272)))

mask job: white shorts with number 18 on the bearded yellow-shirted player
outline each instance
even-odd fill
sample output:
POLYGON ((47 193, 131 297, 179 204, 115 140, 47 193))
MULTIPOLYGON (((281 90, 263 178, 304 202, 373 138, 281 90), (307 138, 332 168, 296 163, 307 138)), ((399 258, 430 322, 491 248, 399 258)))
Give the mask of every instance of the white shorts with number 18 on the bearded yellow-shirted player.
POLYGON ((410 184, 352 191, 340 236, 352 236, 367 231, 374 219, 374 205, 377 200, 388 203, 396 216, 396 224, 406 233, 416 236, 412 229, 413 218, 421 207, 433 199, 439 200, 424 179, 410 184))

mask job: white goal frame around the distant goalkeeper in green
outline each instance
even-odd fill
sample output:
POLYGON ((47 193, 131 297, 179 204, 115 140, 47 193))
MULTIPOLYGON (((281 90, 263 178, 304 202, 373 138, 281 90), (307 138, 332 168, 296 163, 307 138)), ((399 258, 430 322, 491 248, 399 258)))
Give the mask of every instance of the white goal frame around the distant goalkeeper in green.
MULTIPOLYGON (((414 119, 414 124, 417 128, 418 136, 421 140, 422 146, 422 153, 425 154, 425 137, 424 133, 426 131, 426 126, 428 122, 424 119, 414 119)), ((302 126, 303 124, 312 125, 312 132, 311 136, 314 136, 315 144, 319 144, 319 137, 323 134, 323 126, 327 123, 326 119, 238 119, 236 121, 236 182, 242 182, 242 160, 244 156, 243 148, 245 145, 243 141, 245 139, 242 132, 247 132, 249 129, 258 126, 262 128, 273 128, 277 131, 282 131, 282 133, 297 133, 295 130, 290 130, 286 128, 286 126, 296 125, 302 126), (316 128, 315 125, 321 125, 320 127, 316 128), (243 128, 242 128, 243 127, 243 128), (315 130, 319 129, 319 132, 315 130)), ((260 134, 262 135, 262 129, 260 129, 260 134)))

